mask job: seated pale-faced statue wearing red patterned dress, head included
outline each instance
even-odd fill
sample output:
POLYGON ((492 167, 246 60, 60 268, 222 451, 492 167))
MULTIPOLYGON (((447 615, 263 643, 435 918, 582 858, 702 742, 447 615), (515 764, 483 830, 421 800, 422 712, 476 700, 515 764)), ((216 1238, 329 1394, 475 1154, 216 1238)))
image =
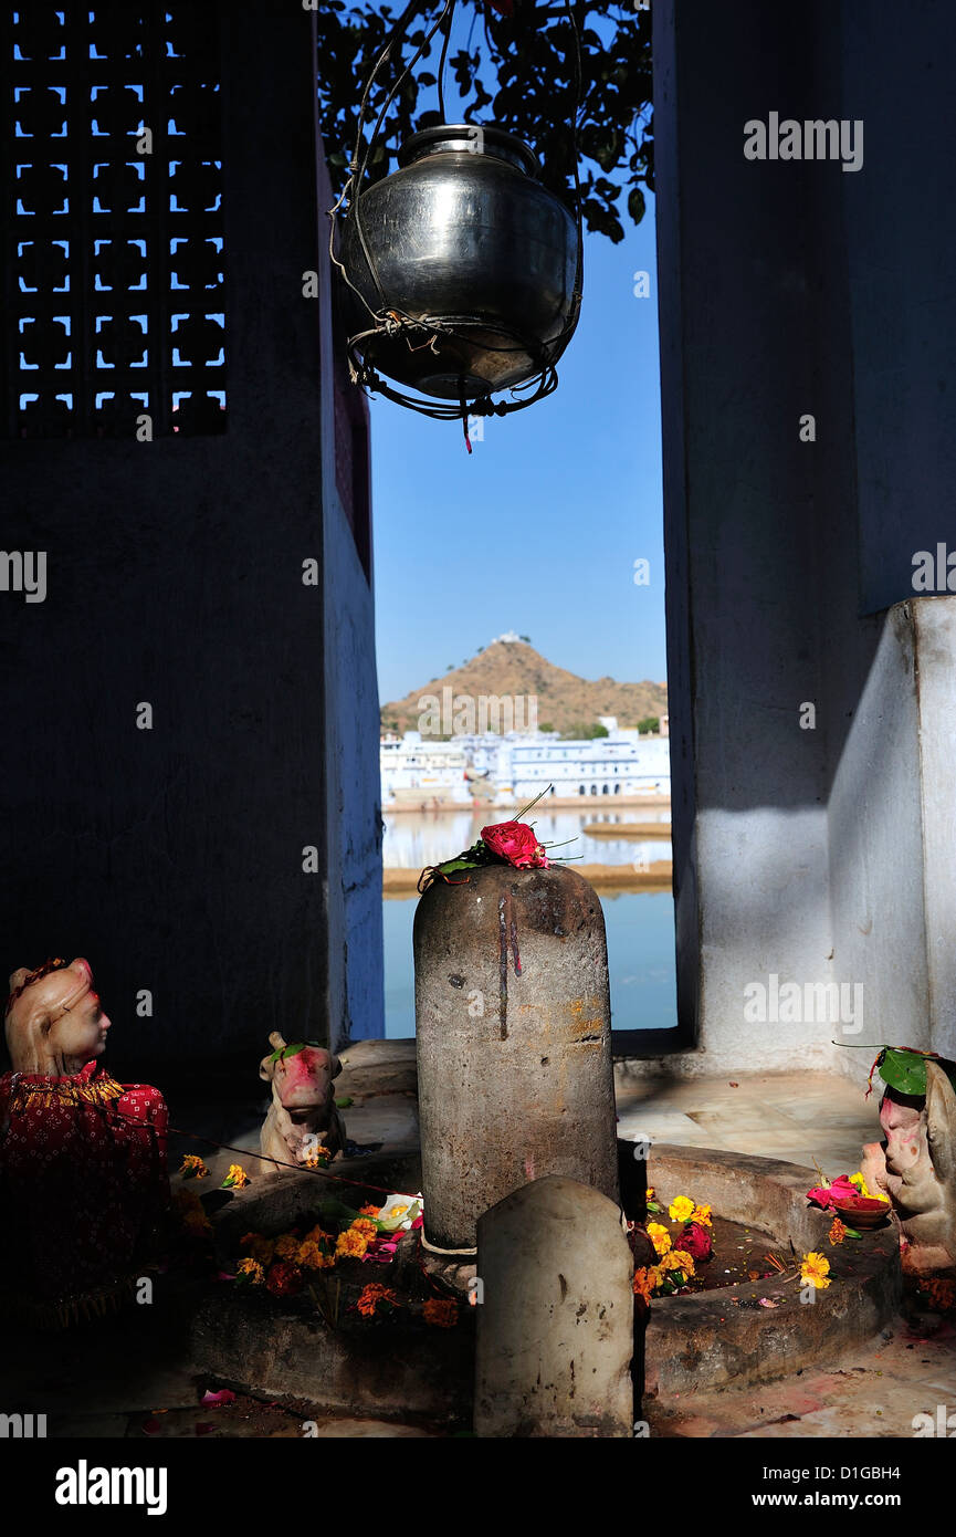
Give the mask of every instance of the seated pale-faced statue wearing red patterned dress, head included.
POLYGON ((81 958, 9 979, 0 1077, 0 1282, 15 1316, 65 1326, 132 1293, 169 1205, 166 1102, 103 1068, 111 1022, 81 958))

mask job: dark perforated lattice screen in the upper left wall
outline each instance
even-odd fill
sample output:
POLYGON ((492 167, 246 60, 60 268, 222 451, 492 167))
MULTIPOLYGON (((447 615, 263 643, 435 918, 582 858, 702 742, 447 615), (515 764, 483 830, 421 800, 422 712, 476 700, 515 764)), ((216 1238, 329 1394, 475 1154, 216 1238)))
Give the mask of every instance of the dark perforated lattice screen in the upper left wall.
POLYGON ((14 438, 226 429, 217 6, 3 6, 14 438))

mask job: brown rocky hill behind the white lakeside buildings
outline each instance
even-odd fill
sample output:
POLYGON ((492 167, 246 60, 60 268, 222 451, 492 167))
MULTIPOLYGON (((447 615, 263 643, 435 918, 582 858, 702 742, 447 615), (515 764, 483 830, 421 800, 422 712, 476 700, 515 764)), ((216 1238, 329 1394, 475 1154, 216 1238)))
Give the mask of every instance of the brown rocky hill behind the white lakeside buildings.
MULTIPOLYGON (((664 684, 615 682, 613 678, 598 678, 592 682, 566 672, 564 667, 555 667, 524 641, 498 639, 443 678, 433 678, 420 689, 412 689, 404 699, 383 704, 383 730, 400 733, 418 730, 423 715, 420 701, 430 695, 441 705, 443 699, 447 699, 443 696, 444 689, 452 690, 452 699, 455 696, 472 699, 476 715, 483 695, 523 701, 535 696, 539 730, 561 732, 563 736, 587 733, 598 724, 601 715, 615 715, 618 725, 627 727, 636 725, 647 716, 667 713, 664 684)), ((516 718, 515 727, 529 724, 529 704, 524 702, 523 709, 524 721, 516 718)), ((504 719, 500 719, 498 725, 490 719, 490 730, 503 729, 504 719)), ((433 736, 450 736, 452 730, 455 727, 447 718, 441 721, 440 729, 433 722, 427 727, 433 736)))

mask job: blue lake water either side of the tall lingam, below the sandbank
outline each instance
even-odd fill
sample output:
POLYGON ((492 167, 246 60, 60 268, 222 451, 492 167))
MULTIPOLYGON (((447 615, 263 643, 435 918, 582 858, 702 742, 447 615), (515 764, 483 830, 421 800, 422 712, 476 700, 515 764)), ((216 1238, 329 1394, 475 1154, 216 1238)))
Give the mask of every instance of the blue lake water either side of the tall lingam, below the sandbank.
MULTIPOLYGON (((446 855, 447 858, 447 855, 446 855)), ((418 898, 383 902, 386 1036, 415 1034, 412 919, 418 898)), ((615 1030, 673 1030, 676 978, 670 891, 601 895, 615 1030)))

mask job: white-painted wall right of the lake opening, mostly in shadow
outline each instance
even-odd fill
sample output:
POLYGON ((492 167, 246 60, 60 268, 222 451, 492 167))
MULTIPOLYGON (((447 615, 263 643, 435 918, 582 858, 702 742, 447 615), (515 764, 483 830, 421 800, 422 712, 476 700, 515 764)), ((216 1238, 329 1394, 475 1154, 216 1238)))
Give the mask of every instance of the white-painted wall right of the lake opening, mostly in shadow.
POLYGON ((902 68, 895 29, 845 0, 659 0, 653 22, 693 1042, 667 1070, 865 1077, 873 1054, 832 1037, 956 1053, 956 598, 910 579, 916 549, 956 547, 951 6, 915 0, 902 68), (747 161, 744 124, 770 112, 862 120, 862 169, 747 161), (747 1022, 770 973, 862 987, 862 1016, 747 1022))

